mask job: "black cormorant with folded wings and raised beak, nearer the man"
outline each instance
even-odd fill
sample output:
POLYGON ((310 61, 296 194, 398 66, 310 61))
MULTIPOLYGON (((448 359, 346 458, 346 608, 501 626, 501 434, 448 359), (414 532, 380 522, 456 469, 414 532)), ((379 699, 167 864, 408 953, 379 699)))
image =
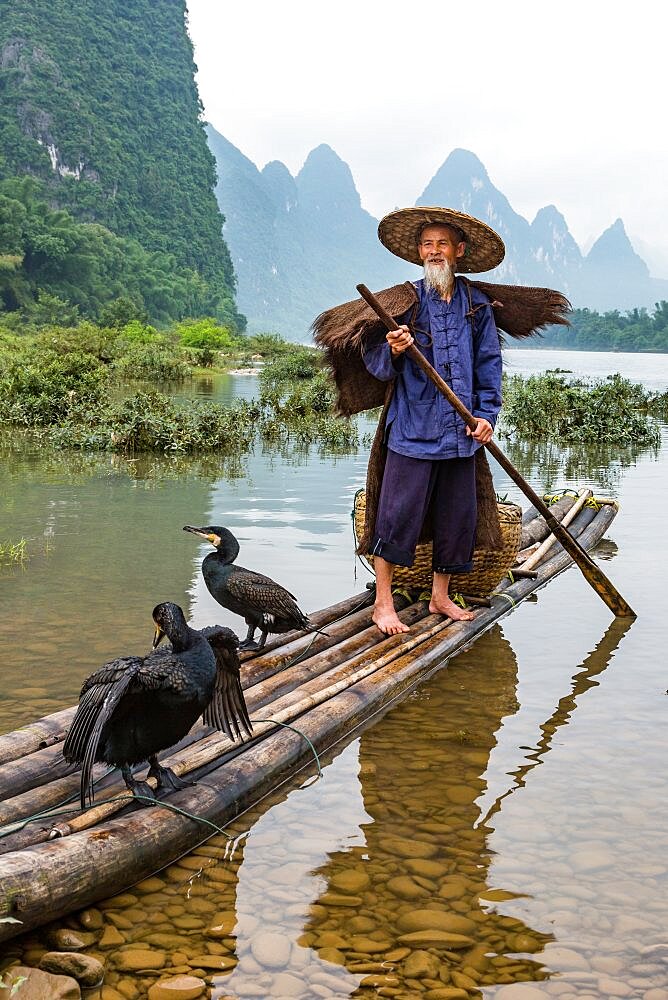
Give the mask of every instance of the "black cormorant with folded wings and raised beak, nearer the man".
POLYGON ((239 555, 239 543, 231 531, 216 525, 193 528, 189 524, 183 530, 205 538, 216 550, 205 557, 202 574, 211 596, 228 611, 245 618, 248 635, 240 649, 262 649, 268 632, 311 627, 294 596, 285 587, 262 573, 234 565, 239 555), (260 629, 259 643, 253 639, 256 628, 260 629))

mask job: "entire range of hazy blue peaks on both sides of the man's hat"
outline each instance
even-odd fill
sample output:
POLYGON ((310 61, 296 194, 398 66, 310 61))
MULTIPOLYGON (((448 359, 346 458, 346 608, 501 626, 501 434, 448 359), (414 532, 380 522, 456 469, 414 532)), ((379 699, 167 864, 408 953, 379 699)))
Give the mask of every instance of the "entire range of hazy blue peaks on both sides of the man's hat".
MULTIPOLYGON (((207 131, 238 307, 250 331, 301 339, 319 312, 355 297, 357 282, 383 288, 419 273, 380 245, 377 220, 362 208, 350 168, 329 146, 314 149, 292 177, 277 161, 259 171, 213 128, 207 131)), ((573 305, 597 310, 651 308, 668 298, 668 281, 650 276, 621 219, 583 256, 554 205, 529 223, 466 150, 453 150, 416 204, 459 209, 501 235, 506 256, 485 275, 491 280, 558 288, 573 305)))

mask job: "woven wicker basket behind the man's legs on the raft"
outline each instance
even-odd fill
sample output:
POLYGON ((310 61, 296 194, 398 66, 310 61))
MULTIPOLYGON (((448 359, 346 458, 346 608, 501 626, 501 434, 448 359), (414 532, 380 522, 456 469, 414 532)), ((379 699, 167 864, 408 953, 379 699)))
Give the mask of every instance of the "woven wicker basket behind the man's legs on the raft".
MULTIPOLYGON (((501 523, 500 549, 476 549, 473 553, 473 569, 470 573, 455 573, 450 579, 450 593, 470 594, 473 597, 487 597, 503 579, 517 558, 522 534, 522 509, 514 503, 497 503, 501 523)), ((364 530, 366 492, 355 494, 353 523, 355 541, 364 530)), ((363 559, 373 569, 373 556, 363 559)), ((397 566, 392 583, 397 587, 417 590, 431 590, 433 570, 431 566, 431 542, 418 545, 412 566, 397 566)))

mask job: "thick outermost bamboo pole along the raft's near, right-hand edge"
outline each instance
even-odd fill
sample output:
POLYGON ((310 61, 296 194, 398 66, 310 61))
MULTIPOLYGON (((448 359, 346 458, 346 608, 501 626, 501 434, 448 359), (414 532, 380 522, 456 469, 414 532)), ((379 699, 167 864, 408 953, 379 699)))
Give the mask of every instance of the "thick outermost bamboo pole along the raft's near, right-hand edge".
MULTIPOLYGON (((596 513, 579 535, 582 544, 597 542, 615 513, 614 509, 596 513)), ((576 520, 574 531, 580 520, 576 520)), ((544 575, 539 581, 518 581, 506 593, 518 603, 571 562, 562 549, 542 567, 544 575)), ((469 645, 475 637, 472 625, 478 635, 512 610, 501 597, 493 598, 492 603, 492 608, 476 614, 474 622, 453 623, 444 634, 426 640, 419 656, 401 656, 307 712, 299 723, 303 735, 320 754, 327 752, 437 669, 448 656, 469 645)), ((281 729, 212 771, 194 789, 171 797, 180 808, 196 813, 199 822, 159 807, 140 809, 94 830, 0 858, 0 916, 22 921, 21 925, 0 923, 0 940, 14 936, 17 928, 21 932, 31 930, 129 888, 208 839, 211 828, 202 825, 203 820, 219 826, 230 822, 312 764, 311 749, 302 736, 281 729), (92 871, 95 879, 91 878, 92 871)))

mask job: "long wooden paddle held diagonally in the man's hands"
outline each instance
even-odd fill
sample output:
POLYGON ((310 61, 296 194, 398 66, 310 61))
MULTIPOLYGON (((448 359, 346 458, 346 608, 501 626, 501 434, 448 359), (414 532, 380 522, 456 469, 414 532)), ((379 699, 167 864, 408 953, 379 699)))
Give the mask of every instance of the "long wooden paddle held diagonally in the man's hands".
MULTIPOLYGON (((392 316, 390 316, 388 312, 385 311, 385 309, 383 309, 376 296, 369 291, 366 285, 358 285, 357 291, 371 306, 376 315, 380 317, 383 323, 385 323, 388 330, 399 329, 399 324, 392 318, 392 316)), ((469 410, 467 410, 459 397, 455 395, 447 382, 441 378, 438 372, 435 371, 435 369, 429 364, 427 359, 420 353, 417 347, 414 344, 411 344, 410 347, 406 348, 404 353, 407 354, 411 360, 422 369, 427 378, 434 383, 439 392, 445 396, 453 409, 455 409, 464 420, 466 426, 470 430, 475 430, 478 426, 476 418, 469 412, 469 410)), ((531 500, 539 513, 543 515, 547 521, 548 527, 555 533, 563 547, 567 550, 575 564, 581 570, 587 583, 596 591, 601 600, 610 608, 612 613, 618 618, 637 617, 635 611, 624 600, 622 595, 614 587, 610 580, 608 580, 601 567, 597 566, 588 552, 583 549, 581 545, 578 545, 573 536, 569 535, 565 528, 561 527, 559 521, 557 521, 554 515, 550 513, 549 507, 543 503, 535 490, 533 490, 526 480, 519 474, 510 459, 504 455, 499 446, 495 444, 494 441, 487 441, 484 447, 487 448, 490 455, 496 459, 501 468, 510 476, 512 481, 519 486, 524 495, 531 500)))

